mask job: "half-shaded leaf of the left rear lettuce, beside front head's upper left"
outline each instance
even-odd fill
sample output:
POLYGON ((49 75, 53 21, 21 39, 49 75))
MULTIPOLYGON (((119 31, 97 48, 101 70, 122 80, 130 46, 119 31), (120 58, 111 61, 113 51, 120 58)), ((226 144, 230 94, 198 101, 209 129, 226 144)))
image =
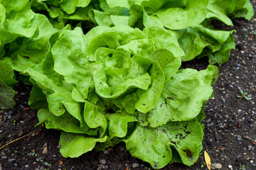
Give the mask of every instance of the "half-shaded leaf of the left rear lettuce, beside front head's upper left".
MULTIPOLYGON (((38 64, 43 61, 49 48, 49 39, 57 30, 49 23, 46 16, 36 14, 31 23, 39 30, 36 38, 24 38, 21 42, 11 43, 10 56, 6 62, 19 72, 23 72, 31 64, 38 64)), ((9 54, 8 54, 9 55, 9 54)))

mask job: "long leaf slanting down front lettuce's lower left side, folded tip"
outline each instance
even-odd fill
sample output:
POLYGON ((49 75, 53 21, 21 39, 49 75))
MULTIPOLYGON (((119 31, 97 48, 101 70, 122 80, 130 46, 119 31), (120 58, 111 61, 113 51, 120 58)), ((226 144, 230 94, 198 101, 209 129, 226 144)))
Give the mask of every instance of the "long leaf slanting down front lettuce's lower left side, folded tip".
POLYGON ((49 72, 48 68, 50 66, 53 68, 52 58, 49 56, 47 59, 45 61, 48 62, 48 67, 38 65, 30 67, 25 72, 43 89, 43 93, 46 94, 50 113, 59 116, 63 115, 65 110, 67 110, 74 118, 80 121, 81 127, 86 126, 85 121, 82 120, 81 103, 78 103, 72 98, 72 85, 65 82, 63 77, 53 70, 50 71, 49 75, 43 74, 43 72, 49 72))

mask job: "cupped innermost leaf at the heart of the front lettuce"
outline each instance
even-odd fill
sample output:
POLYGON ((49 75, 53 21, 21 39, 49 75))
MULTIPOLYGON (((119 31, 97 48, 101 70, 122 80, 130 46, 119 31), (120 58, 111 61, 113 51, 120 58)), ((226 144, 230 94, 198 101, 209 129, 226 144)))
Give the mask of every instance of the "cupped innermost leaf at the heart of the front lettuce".
POLYGON ((102 50, 97 50, 97 54, 100 51, 99 56, 102 56, 102 59, 99 59, 99 62, 90 64, 97 94, 104 98, 116 98, 130 88, 144 90, 148 88, 149 84, 151 84, 149 74, 144 72, 142 76, 138 75, 137 77, 132 77, 129 74, 129 67, 132 67, 131 65, 134 63, 133 60, 131 61, 129 54, 122 51, 114 51, 110 53, 112 57, 109 57, 109 52, 105 49, 102 50))

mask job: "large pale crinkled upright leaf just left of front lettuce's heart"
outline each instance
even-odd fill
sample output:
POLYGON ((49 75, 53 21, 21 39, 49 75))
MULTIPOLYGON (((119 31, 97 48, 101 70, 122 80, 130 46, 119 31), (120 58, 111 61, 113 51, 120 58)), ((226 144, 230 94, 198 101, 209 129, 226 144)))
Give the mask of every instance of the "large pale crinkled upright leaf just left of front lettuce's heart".
POLYGON ((52 48, 55 72, 62 74, 68 83, 75 84, 82 98, 87 98, 89 89, 94 86, 86 47, 87 40, 82 29, 75 28, 65 30, 52 48))

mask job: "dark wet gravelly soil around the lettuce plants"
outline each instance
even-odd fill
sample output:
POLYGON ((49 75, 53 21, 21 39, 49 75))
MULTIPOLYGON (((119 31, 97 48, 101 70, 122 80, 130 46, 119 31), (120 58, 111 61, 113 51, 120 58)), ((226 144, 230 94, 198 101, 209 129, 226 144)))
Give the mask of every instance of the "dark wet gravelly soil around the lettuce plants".
MULTIPOLYGON (((256 1, 252 1, 256 9, 256 1)), ((236 49, 230 60, 218 66, 219 79, 213 85, 215 94, 204 111, 206 119, 203 150, 196 164, 170 164, 164 169, 207 169, 203 152, 208 152, 213 169, 256 169, 256 19, 234 20, 234 26, 216 23, 222 30, 237 30, 236 49), (240 90, 247 92, 247 99, 240 90), (241 97, 238 97, 241 96, 241 97)), ((206 69, 206 59, 183 63, 183 68, 206 69)), ((36 112, 29 109, 31 86, 16 84, 16 106, 0 111, 1 146, 34 130, 31 135, 11 143, 0 151, 2 169, 152 169, 132 157, 124 143, 105 152, 87 152, 79 158, 63 158, 58 145, 60 132, 34 128, 36 112)))

